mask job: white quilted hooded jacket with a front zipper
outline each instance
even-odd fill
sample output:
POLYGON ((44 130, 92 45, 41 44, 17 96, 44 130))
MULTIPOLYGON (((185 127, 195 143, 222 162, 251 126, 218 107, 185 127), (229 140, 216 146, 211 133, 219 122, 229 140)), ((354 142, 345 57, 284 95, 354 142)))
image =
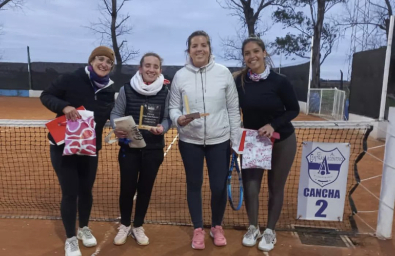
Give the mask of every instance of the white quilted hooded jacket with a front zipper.
POLYGON ((177 126, 180 140, 200 145, 212 145, 234 141, 241 127, 239 96, 228 68, 209 63, 196 68, 189 60, 174 75, 170 89, 170 119, 177 126), (184 95, 188 97, 190 113, 208 113, 185 126, 177 120, 187 114, 184 95))

